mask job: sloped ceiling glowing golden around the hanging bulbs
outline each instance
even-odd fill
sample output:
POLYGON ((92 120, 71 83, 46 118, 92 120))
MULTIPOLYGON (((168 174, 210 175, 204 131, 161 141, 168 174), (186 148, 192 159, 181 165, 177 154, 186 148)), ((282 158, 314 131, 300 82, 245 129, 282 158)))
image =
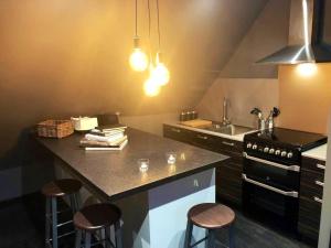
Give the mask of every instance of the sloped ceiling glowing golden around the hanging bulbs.
MULTIPOLYGON (((147 0, 139 34, 148 44, 147 0)), ((171 82, 143 96, 147 75, 128 66, 134 0, 0 1, 0 151, 46 118, 120 111, 169 112, 194 106, 267 0, 160 0, 161 42, 171 82)), ((152 50, 157 50, 156 1, 152 50)))

